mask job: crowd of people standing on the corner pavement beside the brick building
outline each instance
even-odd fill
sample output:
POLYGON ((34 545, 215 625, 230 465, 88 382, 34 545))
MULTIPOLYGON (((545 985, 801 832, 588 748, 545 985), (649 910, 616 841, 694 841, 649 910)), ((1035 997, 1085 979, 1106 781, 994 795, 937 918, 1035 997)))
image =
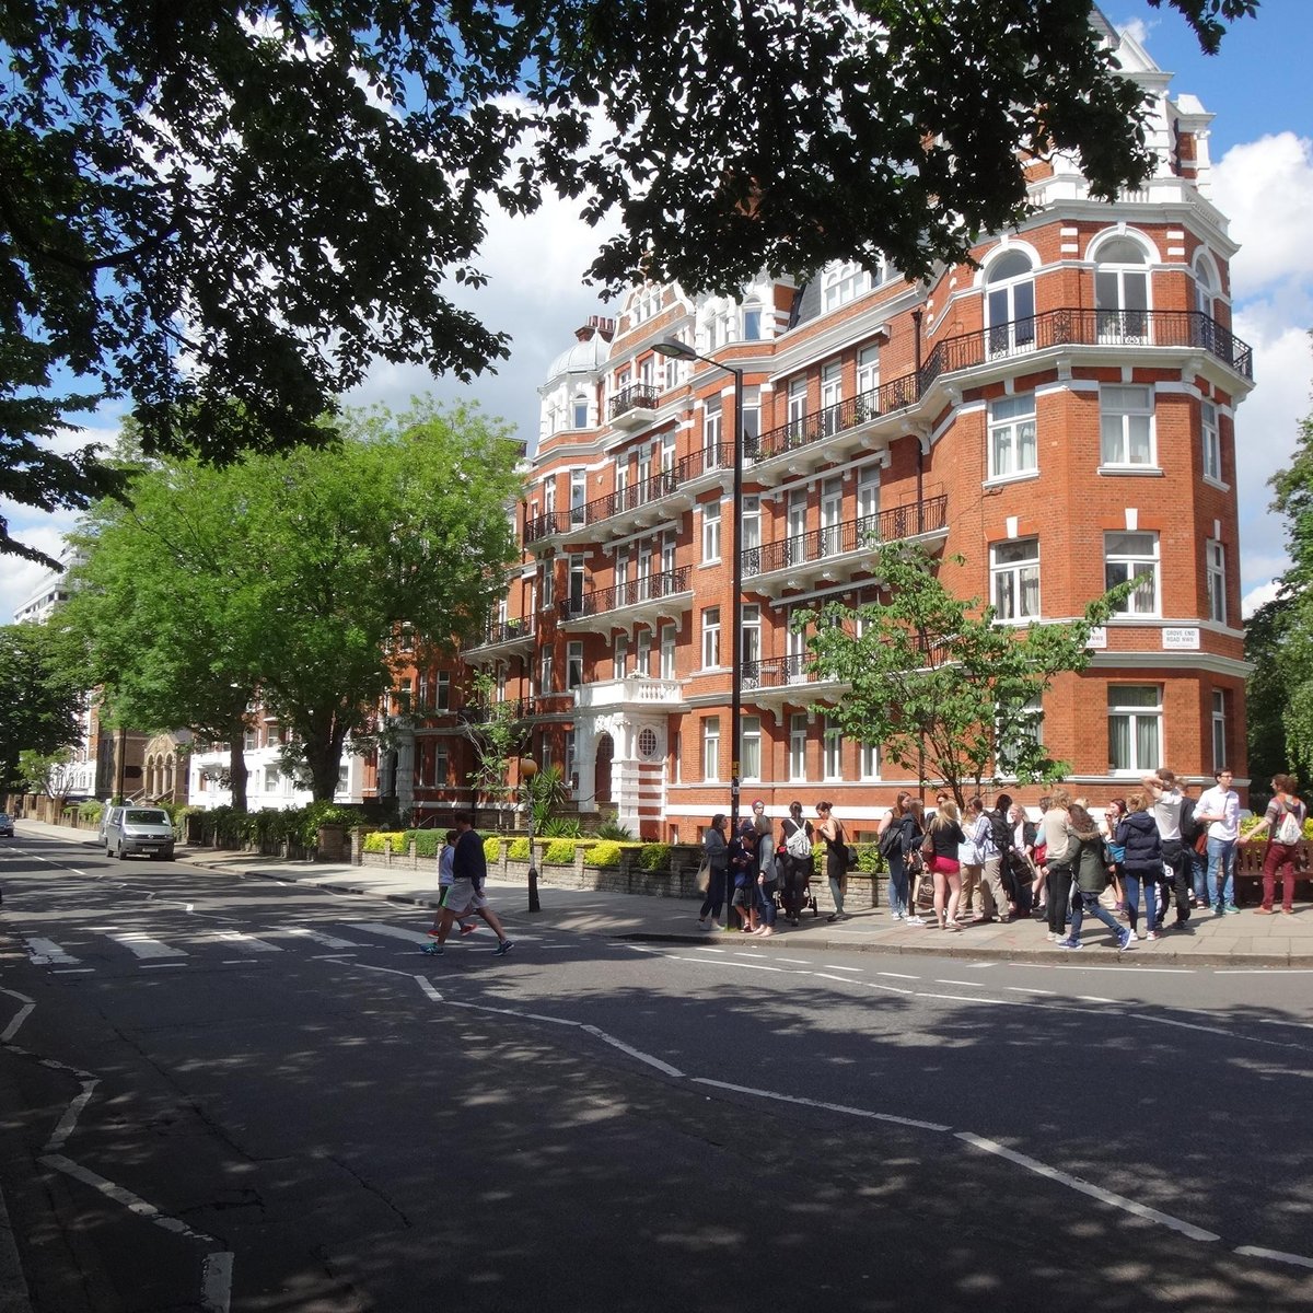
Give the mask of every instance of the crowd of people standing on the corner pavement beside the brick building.
MULTIPOLYGON (((1272 779, 1272 800, 1245 842, 1266 835, 1262 905, 1293 913, 1297 844, 1306 807, 1292 776, 1272 779)), ((712 818, 704 836, 705 897, 697 923, 716 927, 729 901, 737 928, 767 937, 780 915, 793 926, 811 901, 817 846, 823 844, 825 877, 834 911, 846 920, 844 886, 856 851, 830 802, 817 804, 815 822, 802 804, 789 805, 779 830, 762 801, 737 834, 726 818, 712 818)), ((958 809, 940 790, 932 810, 899 793, 880 822, 878 847, 889 872, 889 910, 895 922, 960 932, 964 924, 1035 916, 1061 948, 1082 944, 1086 916, 1104 924, 1119 949, 1162 937, 1188 924, 1191 913, 1238 914, 1236 855, 1239 796, 1232 772, 1218 771, 1197 800, 1171 771, 1146 775, 1140 789, 1115 797, 1095 818, 1086 798, 1054 789, 1040 798, 1039 818, 1001 794, 993 806, 981 797, 958 809), (928 903, 928 915, 918 907, 928 903)))

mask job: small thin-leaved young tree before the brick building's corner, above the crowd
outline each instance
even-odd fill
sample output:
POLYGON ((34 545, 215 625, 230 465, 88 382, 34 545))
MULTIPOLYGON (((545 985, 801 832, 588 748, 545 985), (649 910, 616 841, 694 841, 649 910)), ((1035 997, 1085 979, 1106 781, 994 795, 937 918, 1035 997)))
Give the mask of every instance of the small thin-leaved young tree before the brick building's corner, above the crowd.
POLYGON ((1061 779, 1069 767, 1045 751, 1035 708, 1058 675, 1088 666, 1090 630, 1130 586, 1092 601, 1083 620, 1018 629, 994 624, 993 607, 955 596, 936 567, 920 548, 884 545, 872 571, 888 600, 798 617, 815 626, 810 668, 848 685, 838 705, 815 710, 922 780, 943 780, 958 804, 985 779, 1061 779))

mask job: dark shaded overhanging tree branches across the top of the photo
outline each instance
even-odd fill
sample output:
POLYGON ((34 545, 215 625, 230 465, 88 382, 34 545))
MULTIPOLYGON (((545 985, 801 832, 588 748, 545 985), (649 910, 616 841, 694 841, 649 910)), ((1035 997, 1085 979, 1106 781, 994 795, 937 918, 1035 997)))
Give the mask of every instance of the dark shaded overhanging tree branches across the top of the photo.
MULTIPOLYGON (((1150 3, 1209 51, 1257 9, 1150 3)), ((1073 154, 1098 196, 1145 176, 1104 38, 1090 0, 12 0, 7 491, 104 491, 41 442, 97 398, 129 399, 148 453, 226 460, 322 437, 374 358, 486 368, 504 336, 450 289, 483 281, 488 210, 549 192, 620 230, 592 268, 612 289, 922 274, 1024 213, 1028 155, 1073 154)))

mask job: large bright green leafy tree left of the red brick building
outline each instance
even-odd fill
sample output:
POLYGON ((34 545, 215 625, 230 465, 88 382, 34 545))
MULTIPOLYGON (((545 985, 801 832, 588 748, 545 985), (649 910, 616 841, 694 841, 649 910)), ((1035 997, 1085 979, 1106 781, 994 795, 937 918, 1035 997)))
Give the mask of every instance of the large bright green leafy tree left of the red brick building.
POLYGON ((131 508, 97 506, 70 605, 116 716, 227 738, 236 764, 257 699, 332 798, 344 741, 410 660, 403 632, 423 659, 487 616, 519 458, 477 410, 418 402, 347 416, 322 450, 142 471, 131 508))

